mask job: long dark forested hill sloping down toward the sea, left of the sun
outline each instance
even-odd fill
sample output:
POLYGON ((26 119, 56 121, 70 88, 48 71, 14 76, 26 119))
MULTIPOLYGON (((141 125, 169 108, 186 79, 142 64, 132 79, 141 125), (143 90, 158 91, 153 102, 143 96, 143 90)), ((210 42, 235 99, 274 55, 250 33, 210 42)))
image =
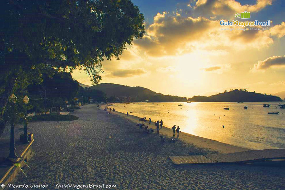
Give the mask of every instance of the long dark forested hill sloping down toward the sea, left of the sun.
POLYGON ((129 87, 113 83, 100 83, 90 87, 105 92, 107 97, 129 97, 132 102, 185 102, 186 97, 163 95, 143 87, 129 87))

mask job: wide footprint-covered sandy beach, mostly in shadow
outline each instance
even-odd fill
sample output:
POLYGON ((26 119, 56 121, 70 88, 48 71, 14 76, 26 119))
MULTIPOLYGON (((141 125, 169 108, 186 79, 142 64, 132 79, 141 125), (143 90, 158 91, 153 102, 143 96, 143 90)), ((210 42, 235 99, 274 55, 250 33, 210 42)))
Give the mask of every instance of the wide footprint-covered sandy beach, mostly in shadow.
MULTIPOLYGON (((168 158, 247 149, 186 133, 181 133, 175 143, 169 139, 162 143, 156 130, 145 134, 136 127, 139 121, 135 116, 118 112, 109 115, 95 104, 81 108, 74 113, 79 120, 71 123, 28 124, 35 138, 34 156, 28 163, 32 171, 24 168, 28 178, 19 173, 13 184, 49 185, 45 189, 76 189, 56 188, 58 183, 117 186, 110 189, 285 189, 282 168, 237 164, 176 166, 168 158)), ((21 132, 15 129, 15 137, 19 138, 21 132)), ((165 127, 160 132, 166 138, 173 134, 165 127)), ((9 138, 9 130, 3 136, 9 138)))

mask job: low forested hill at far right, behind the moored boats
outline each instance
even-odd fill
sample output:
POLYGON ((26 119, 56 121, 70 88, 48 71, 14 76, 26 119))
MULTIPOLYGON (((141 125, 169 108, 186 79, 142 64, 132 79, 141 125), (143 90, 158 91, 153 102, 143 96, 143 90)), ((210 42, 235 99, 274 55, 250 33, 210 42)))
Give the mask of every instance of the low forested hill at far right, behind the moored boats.
POLYGON ((219 93, 211 96, 194 96, 191 98, 193 102, 271 102, 282 101, 278 96, 267 95, 255 92, 248 92, 243 89, 235 89, 229 92, 219 93))

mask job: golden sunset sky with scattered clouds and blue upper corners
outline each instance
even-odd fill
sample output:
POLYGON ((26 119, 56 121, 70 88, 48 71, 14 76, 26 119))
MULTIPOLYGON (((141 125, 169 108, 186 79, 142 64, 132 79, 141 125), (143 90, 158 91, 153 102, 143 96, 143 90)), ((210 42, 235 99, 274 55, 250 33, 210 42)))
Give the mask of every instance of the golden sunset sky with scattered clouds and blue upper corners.
MULTIPOLYGON (((133 3, 144 14, 146 34, 133 40, 120 60, 103 62, 102 83, 141 86, 186 97, 235 88, 268 94, 285 90, 285 1, 133 3), (251 13, 250 19, 235 17, 244 11, 251 13), (221 20, 270 20, 269 27, 262 27, 270 29, 222 30, 243 27, 221 26, 221 20)), ((84 71, 72 75, 90 85, 84 71)))

